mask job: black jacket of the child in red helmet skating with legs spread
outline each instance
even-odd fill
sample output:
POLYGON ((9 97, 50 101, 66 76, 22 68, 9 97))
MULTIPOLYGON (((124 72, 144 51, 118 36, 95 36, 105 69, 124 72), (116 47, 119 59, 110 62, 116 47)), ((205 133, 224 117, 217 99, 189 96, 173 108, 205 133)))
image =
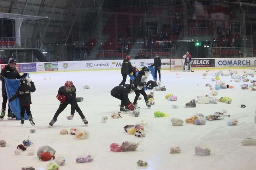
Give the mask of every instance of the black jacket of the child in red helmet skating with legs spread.
MULTIPOLYGON (((75 86, 74 86, 75 89, 75 86)), ((58 90, 58 95, 65 95, 67 96, 66 101, 64 102, 60 102, 60 103, 64 103, 64 104, 70 104, 71 105, 71 114, 75 114, 75 107, 77 105, 77 99, 76 99, 76 89, 70 93, 67 93, 65 91, 65 87, 61 86, 58 90)))

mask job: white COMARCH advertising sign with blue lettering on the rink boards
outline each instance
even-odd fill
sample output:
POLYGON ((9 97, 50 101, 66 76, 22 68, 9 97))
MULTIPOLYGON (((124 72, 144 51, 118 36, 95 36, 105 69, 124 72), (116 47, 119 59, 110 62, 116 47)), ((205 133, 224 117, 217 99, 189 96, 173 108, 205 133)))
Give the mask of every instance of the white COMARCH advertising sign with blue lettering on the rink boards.
POLYGON ((215 59, 217 67, 251 67, 255 66, 255 58, 222 58, 215 59))

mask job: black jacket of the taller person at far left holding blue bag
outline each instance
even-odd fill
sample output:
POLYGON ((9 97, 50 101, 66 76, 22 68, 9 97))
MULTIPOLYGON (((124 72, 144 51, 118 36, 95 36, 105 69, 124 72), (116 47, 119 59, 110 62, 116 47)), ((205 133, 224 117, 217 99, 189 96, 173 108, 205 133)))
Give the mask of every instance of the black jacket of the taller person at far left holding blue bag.
MULTIPOLYGON (((5 66, 5 68, 2 69, 0 75, 10 80, 20 79, 26 76, 26 75, 20 75, 20 73, 17 71, 16 68, 14 70, 10 69, 9 65, 5 66)), ((2 91, 6 91, 5 80, 2 80, 2 91)))

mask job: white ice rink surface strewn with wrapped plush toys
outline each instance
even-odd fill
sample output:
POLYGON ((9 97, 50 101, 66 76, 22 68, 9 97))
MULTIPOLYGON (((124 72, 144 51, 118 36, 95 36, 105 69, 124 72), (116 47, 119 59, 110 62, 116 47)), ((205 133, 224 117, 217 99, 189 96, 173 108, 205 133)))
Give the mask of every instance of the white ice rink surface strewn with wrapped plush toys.
MULTIPOLYGON (((251 69, 233 69, 239 75, 243 71, 252 72, 251 69)), ((155 104, 147 109, 145 101, 139 100, 139 117, 122 114, 123 118, 112 119, 110 115, 119 111, 120 101, 110 95, 114 86, 118 86, 122 80, 120 70, 105 71, 80 71, 80 72, 50 72, 30 74, 35 83, 36 91, 31 93, 31 112, 35 122, 35 133, 30 133, 34 128, 25 120, 24 126, 20 120, 7 120, 0 122, 0 140, 7 142, 6 147, 0 147, 0 169, 19 170, 22 167, 32 166, 36 170, 47 169, 47 164, 55 163, 54 160, 43 162, 35 155, 29 156, 28 151, 21 155, 15 155, 17 145, 22 144, 28 136, 33 145, 27 150, 37 152, 38 148, 49 145, 56 150, 55 157, 65 157, 66 165, 61 170, 99 169, 99 170, 251 170, 255 169, 256 146, 244 146, 241 144, 244 138, 256 138, 255 96, 256 91, 242 90, 241 84, 250 82, 230 82, 231 78, 221 77, 225 84, 233 85, 233 89, 220 89, 216 98, 224 96, 233 99, 232 104, 219 102, 218 104, 197 104, 195 108, 184 108, 185 104, 197 96, 210 95, 212 92, 206 84, 212 84, 215 73, 219 70, 211 70, 206 77, 202 76, 206 70, 195 72, 170 72, 161 70, 161 86, 166 91, 146 90, 146 93, 154 92, 155 104), (177 75, 178 74, 178 75, 177 75), (175 78, 180 77, 180 78, 175 78), (204 79, 206 78, 206 79, 204 79), (48 124, 59 107, 56 95, 60 86, 64 86, 67 80, 73 81, 76 87, 76 95, 84 98, 78 102, 89 124, 85 126, 77 112, 73 120, 67 120, 70 115, 70 105, 59 115, 52 128, 48 124), (84 85, 90 89, 83 89, 84 85), (166 93, 172 93, 178 97, 177 101, 165 99, 166 93), (178 105, 178 109, 172 108, 172 104, 178 105), (240 108, 245 104, 245 108, 240 108), (185 120, 195 113, 204 116, 215 111, 227 110, 230 118, 223 120, 206 121, 205 125, 192 125, 184 122, 182 126, 173 126, 171 118, 185 120), (154 112, 160 111, 169 114, 168 117, 155 118, 154 112), (102 123, 103 116, 108 116, 108 121, 102 123), (238 124, 227 126, 227 120, 237 119, 238 124), (145 131, 145 138, 129 135, 123 130, 125 125, 135 125, 137 122, 146 121, 151 124, 151 130, 145 131), (76 139, 74 135, 59 134, 60 130, 71 127, 86 129, 90 132, 88 139, 76 139), (121 144, 124 141, 137 141, 139 146, 135 151, 112 152, 110 144, 121 144), (194 152, 195 146, 205 144, 211 149, 209 156, 198 156, 194 152), (170 154, 170 148, 179 146, 181 152, 170 154), (84 153, 95 155, 93 162, 76 163, 76 158, 84 153), (148 162, 147 167, 137 166, 136 162, 143 160, 148 162)), ((229 70, 222 70, 228 74, 229 70)), ((256 79, 256 77, 248 79, 256 79)), ((126 83, 128 84, 129 77, 126 83)), ((152 80, 152 76, 148 77, 152 80)), ((133 101, 135 93, 130 94, 133 101)), ((143 96, 141 95, 142 99, 143 96)), ((2 100, 2 98, 1 98, 2 100)))

